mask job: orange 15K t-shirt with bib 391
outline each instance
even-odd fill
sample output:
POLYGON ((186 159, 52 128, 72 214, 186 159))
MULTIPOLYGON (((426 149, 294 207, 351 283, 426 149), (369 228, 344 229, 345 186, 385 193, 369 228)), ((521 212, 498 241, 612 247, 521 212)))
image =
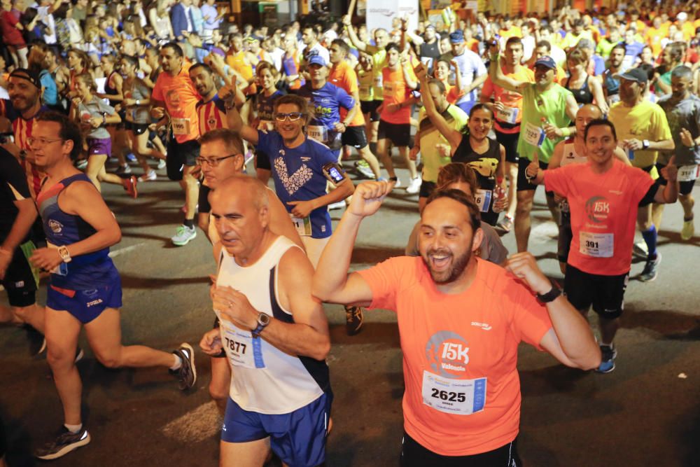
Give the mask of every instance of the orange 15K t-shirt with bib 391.
POLYGON ((642 169, 617 159, 604 174, 590 162, 545 171, 545 187, 566 197, 571 211, 568 263, 601 276, 629 272, 636 208, 653 184, 642 169))

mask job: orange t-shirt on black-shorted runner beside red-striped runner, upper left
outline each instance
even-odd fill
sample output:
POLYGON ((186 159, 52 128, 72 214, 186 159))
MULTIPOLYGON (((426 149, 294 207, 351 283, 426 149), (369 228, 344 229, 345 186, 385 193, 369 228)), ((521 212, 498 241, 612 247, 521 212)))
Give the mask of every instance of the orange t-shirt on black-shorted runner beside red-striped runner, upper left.
POLYGON ((197 94, 190 80, 190 63, 183 63, 177 76, 163 71, 155 81, 151 97, 165 102, 170 116, 172 132, 179 143, 200 137, 200 120, 197 118, 197 102, 202 97, 197 94))

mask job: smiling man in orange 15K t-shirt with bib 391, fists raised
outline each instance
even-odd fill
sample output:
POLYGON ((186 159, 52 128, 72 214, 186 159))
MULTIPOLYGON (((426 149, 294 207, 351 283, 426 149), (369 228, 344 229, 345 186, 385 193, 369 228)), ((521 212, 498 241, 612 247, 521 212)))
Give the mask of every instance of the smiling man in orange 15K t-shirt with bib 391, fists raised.
POLYGON ((632 262, 637 207, 678 198, 678 168, 670 162, 661 173, 668 182, 654 184, 642 169, 625 165, 613 155, 617 148, 615 125, 591 120, 584 132, 588 162, 541 170, 537 161, 526 169, 531 183, 545 183, 566 197, 573 238, 566 264, 564 291, 583 316, 593 306, 601 329, 603 361, 598 372, 615 369, 612 344, 632 262))

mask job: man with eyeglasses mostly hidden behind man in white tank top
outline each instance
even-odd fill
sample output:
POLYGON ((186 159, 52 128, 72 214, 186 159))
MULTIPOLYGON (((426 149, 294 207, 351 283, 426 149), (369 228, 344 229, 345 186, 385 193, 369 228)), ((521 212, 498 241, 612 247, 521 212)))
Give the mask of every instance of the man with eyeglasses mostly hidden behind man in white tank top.
MULTIPOLYGON (((204 182, 209 187, 210 194, 214 193, 214 190, 226 179, 243 173, 243 141, 238 134, 228 130, 228 128, 218 128, 204 133, 200 144, 202 147, 200 157, 197 158, 197 165, 202 167, 204 182)), ((267 195, 269 200, 269 230, 287 237, 303 248, 302 241, 284 205, 272 190, 269 190, 267 195)), ((211 240, 215 250, 220 249, 220 239, 214 221, 211 219, 211 213, 208 221, 209 232, 207 235, 209 240, 211 240)), ((214 328, 218 327, 219 321, 216 319, 214 328)), ((223 357, 225 357, 223 353, 211 356, 211 382, 209 383, 209 394, 216 401, 221 414, 226 408, 228 390, 231 384, 231 370, 223 357)))

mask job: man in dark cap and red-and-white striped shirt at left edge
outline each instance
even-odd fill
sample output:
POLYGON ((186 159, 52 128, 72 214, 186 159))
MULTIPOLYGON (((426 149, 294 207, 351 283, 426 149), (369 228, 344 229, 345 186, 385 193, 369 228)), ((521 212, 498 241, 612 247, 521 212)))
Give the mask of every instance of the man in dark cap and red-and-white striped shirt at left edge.
POLYGON ((34 165, 34 155, 27 140, 33 134, 36 116, 48 111, 48 107, 41 104, 41 81, 38 75, 27 69, 15 69, 8 78, 8 95, 10 100, 0 101, 0 115, 12 122, 15 141, 3 146, 20 160, 27 174, 29 193, 36 199, 44 175, 34 165))

